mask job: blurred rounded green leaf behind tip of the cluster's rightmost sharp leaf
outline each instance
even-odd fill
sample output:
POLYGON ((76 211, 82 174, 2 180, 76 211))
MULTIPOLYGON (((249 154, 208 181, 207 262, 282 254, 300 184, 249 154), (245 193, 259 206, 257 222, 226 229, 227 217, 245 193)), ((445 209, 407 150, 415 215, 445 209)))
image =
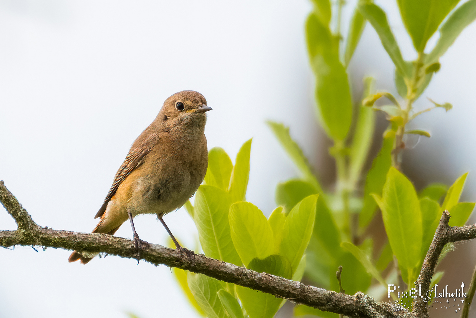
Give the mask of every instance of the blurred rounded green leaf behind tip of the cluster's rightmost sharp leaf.
POLYGON ((317 194, 317 189, 312 184, 300 179, 292 179, 278 183, 276 187, 276 204, 282 205, 285 212, 289 212, 300 200, 317 194))

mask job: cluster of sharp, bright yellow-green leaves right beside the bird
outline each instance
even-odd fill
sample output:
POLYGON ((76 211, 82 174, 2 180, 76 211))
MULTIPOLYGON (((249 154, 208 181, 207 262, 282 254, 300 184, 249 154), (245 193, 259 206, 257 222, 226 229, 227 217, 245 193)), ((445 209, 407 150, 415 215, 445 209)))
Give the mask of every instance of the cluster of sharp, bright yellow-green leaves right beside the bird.
MULTIPOLYGON (((223 149, 211 149, 205 182, 198 188, 194 204, 188 202, 186 209, 206 256, 299 281, 306 268, 304 253, 314 233, 317 190, 299 181, 312 191, 297 197, 290 193, 285 199, 288 209, 278 207, 267 219, 257 206, 245 201, 250 150, 251 139, 238 151, 233 165, 223 149)), ((209 318, 271 318, 285 302, 204 275, 177 268, 173 271, 192 306, 209 318)))

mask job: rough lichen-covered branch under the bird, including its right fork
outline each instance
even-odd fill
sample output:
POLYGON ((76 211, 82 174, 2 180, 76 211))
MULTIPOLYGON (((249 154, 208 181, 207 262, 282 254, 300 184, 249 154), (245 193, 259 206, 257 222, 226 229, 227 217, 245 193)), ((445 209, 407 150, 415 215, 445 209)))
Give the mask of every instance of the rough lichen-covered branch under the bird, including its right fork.
MULTIPOLYGON (((17 230, 0 231, 0 246, 7 248, 15 245, 39 245, 45 248, 103 252, 122 258, 136 258, 134 243, 129 239, 107 234, 85 234, 40 227, 5 187, 3 181, 0 181, 0 201, 18 224, 17 230)), ((448 214, 447 211, 445 213, 448 214)), ((435 258, 437 260, 445 242, 476 238, 476 225, 451 228, 447 225, 449 214, 448 218, 445 219, 445 213, 440 220, 440 225, 420 273, 420 281, 424 281, 427 286, 429 286, 429 280, 426 283, 427 277, 431 279, 435 269, 433 261, 435 258), (439 233, 442 233, 442 235, 439 233), (438 239, 440 237, 442 239, 438 239)), ((201 273, 225 282, 260 290, 278 298, 285 298, 295 304, 306 305, 352 318, 428 317, 427 312, 418 306, 415 308, 419 311, 415 309, 414 312, 409 312, 407 309, 397 310, 390 302, 377 302, 374 298, 361 292, 352 296, 307 286, 297 281, 258 273, 201 254, 197 254, 195 258, 190 259, 186 253, 157 244, 149 244, 148 248, 143 248, 140 252, 141 259, 154 265, 164 264, 169 267, 201 273)))

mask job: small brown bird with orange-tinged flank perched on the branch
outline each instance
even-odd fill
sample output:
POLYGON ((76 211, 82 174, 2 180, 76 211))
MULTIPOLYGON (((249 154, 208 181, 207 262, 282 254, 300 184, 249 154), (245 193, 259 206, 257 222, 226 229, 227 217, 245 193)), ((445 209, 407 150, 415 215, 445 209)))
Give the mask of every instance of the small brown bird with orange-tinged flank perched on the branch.
MULTIPOLYGON (((120 166, 93 233, 113 235, 127 219, 134 244, 139 239, 132 218, 141 213, 157 214, 177 248, 182 248, 162 217, 180 208, 202 183, 208 165, 207 100, 193 90, 183 90, 165 100, 159 115, 134 141, 120 166)), ((69 262, 88 263, 98 253, 74 251, 69 262)))

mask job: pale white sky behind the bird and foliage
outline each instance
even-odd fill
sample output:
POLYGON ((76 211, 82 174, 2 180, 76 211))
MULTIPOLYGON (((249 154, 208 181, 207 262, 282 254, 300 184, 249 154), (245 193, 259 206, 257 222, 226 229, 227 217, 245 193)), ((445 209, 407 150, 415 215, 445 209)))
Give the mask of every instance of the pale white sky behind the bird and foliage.
MULTIPOLYGON (((377 1, 390 12, 404 57, 413 59, 397 7, 387 2, 377 1)), ((0 179, 41 226, 89 232, 134 139, 167 97, 193 89, 213 108, 208 148, 222 147, 234 160, 253 137, 247 199, 268 215, 276 183, 296 171, 265 120, 290 126, 311 162, 321 157, 304 42, 310 9, 306 0, 0 0, 0 179)), ((475 166, 475 36, 476 25, 463 32, 424 94, 455 108, 415 123, 433 136, 407 158, 432 181, 450 183, 475 166)), ((396 94, 393 66, 369 26, 350 70, 355 91, 371 74, 377 88, 396 94)), ((468 186, 475 184, 470 173, 468 186)), ((0 229, 15 229, 2 211, 0 229)), ((165 221, 194 248, 185 210, 165 221)), ((141 239, 168 242, 154 216, 135 224, 141 239)), ((116 235, 130 238, 129 224, 116 235)), ((69 264, 69 254, 0 248, 0 317, 195 316, 165 266, 113 256, 83 266, 69 264)))

